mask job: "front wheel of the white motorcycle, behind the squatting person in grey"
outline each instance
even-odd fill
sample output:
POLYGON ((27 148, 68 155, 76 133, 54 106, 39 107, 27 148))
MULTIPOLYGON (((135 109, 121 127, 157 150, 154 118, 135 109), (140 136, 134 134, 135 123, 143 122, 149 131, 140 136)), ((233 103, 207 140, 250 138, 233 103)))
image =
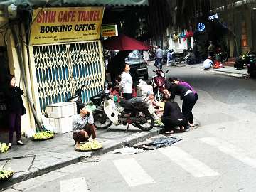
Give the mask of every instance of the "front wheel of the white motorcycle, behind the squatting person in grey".
POLYGON ((97 129, 107 129, 112 125, 112 121, 107 117, 105 112, 96 111, 93 113, 94 125, 97 129))

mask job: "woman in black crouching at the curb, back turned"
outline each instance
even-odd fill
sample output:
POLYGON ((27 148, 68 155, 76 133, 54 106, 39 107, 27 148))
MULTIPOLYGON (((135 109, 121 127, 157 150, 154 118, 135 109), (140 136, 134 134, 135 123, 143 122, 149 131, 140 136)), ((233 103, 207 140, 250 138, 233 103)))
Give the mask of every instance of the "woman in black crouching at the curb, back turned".
POLYGON ((164 114, 161 117, 161 122, 165 126, 166 133, 172 132, 184 132, 184 126, 186 125, 185 117, 181 112, 181 108, 174 100, 171 100, 169 95, 163 96, 164 101, 164 114), (174 129, 174 127, 180 127, 180 129, 174 129))

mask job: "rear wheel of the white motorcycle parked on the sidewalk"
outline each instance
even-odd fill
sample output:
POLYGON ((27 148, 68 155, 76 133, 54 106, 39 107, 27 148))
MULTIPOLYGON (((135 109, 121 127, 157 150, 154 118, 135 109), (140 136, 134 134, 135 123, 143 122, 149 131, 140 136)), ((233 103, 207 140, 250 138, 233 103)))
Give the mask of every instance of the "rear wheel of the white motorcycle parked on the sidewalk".
POLYGON ((137 115, 139 117, 144 117, 146 118, 146 123, 144 124, 139 124, 139 123, 133 123, 133 125, 142 131, 149 131, 154 127, 154 118, 153 116, 149 113, 148 110, 139 110, 137 115))

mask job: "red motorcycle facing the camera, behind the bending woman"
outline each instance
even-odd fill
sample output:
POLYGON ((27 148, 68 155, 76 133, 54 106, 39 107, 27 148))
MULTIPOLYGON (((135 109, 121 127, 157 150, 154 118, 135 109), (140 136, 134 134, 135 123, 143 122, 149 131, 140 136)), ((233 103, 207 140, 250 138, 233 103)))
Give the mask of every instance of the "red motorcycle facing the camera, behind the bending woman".
MULTIPOLYGON (((153 87, 154 92, 154 100, 156 102, 161 101, 161 99, 164 96, 164 85, 166 84, 166 76, 163 70, 153 70, 156 75, 153 76, 151 79, 150 85, 153 87)), ((166 70, 166 73, 168 73, 169 70, 166 70)))

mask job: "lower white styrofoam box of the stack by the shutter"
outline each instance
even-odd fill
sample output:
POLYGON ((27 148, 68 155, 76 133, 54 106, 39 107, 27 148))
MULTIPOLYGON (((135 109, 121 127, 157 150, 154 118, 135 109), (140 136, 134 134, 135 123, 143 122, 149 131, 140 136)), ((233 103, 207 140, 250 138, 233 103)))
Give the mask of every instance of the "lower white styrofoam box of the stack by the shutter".
POLYGON ((50 125, 53 126, 53 132, 63 134, 72 131, 73 116, 63 118, 49 118, 50 125))

